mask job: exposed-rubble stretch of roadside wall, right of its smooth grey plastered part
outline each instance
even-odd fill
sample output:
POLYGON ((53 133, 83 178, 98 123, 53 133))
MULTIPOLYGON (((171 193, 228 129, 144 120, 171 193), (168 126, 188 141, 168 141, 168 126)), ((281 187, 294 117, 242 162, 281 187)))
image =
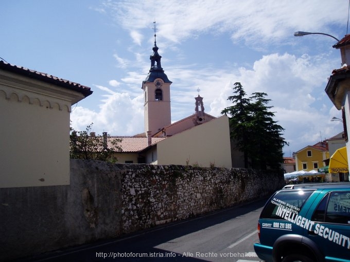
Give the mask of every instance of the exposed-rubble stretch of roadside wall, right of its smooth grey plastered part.
POLYGON ((122 179, 123 232, 231 207, 267 196, 284 183, 283 176, 254 170, 180 165, 147 165, 122 179))

